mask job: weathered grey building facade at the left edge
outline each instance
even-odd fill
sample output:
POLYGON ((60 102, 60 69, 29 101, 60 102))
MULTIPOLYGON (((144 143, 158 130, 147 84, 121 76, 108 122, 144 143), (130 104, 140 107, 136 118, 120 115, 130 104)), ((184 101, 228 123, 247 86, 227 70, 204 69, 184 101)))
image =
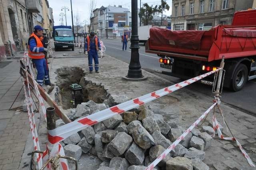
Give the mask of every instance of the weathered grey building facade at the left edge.
POLYGON ((28 35, 25 0, 0 0, 0 61, 25 50, 28 35))

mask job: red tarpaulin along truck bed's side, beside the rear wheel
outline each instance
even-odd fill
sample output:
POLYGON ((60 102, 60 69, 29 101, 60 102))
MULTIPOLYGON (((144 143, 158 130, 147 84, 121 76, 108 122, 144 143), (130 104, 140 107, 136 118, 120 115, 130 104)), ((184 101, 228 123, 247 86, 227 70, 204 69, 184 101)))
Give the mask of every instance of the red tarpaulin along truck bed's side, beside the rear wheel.
POLYGON ((248 37, 248 38, 255 38, 256 37, 256 28, 242 28, 242 29, 232 29, 232 28, 224 28, 226 34, 230 36, 237 36, 237 37, 248 37))

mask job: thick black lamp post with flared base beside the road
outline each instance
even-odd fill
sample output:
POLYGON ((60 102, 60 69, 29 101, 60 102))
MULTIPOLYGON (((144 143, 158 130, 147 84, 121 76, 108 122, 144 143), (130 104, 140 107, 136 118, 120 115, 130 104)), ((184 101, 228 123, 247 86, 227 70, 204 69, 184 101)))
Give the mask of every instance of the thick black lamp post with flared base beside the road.
POLYGON ((140 66, 139 55, 139 36, 138 36, 138 0, 132 0, 132 36, 131 36, 131 60, 126 78, 144 78, 140 66))

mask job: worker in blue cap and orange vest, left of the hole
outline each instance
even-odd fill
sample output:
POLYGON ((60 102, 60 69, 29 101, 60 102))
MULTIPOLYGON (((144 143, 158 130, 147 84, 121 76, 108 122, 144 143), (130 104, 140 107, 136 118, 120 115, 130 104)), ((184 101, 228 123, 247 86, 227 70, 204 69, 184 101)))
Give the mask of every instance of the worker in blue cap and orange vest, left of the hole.
POLYGON ((48 69, 46 67, 46 61, 44 52, 47 52, 48 49, 44 48, 43 45, 43 28, 39 25, 34 27, 34 32, 28 38, 28 56, 32 58, 32 62, 36 66, 37 77, 36 82, 40 86, 43 85, 52 85, 50 83, 48 69))

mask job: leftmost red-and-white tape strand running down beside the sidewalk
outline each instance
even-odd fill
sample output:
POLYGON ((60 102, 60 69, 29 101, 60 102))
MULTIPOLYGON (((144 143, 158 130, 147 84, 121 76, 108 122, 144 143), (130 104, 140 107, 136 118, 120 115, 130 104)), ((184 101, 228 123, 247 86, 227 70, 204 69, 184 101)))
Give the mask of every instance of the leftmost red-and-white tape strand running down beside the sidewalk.
MULTIPOLYGON (((33 144, 34 144, 34 150, 40 150, 40 145, 39 145, 39 141, 38 141, 38 134, 37 134, 37 129, 36 129, 36 123, 35 123, 35 119, 34 119, 34 109, 33 109, 33 105, 32 105, 32 96, 30 94, 30 86, 29 86, 29 82, 28 82, 28 70, 27 70, 27 64, 25 64, 26 66, 26 83, 27 86, 25 84, 25 81, 23 82, 24 84, 24 94, 25 94, 25 99, 26 99, 26 105, 27 105, 27 110, 28 110, 28 119, 29 119, 29 124, 30 124, 30 131, 32 133, 32 140, 33 140, 33 144)), ((41 158, 41 154, 36 153, 36 162, 38 163, 38 167, 42 167, 42 158, 41 158)))

